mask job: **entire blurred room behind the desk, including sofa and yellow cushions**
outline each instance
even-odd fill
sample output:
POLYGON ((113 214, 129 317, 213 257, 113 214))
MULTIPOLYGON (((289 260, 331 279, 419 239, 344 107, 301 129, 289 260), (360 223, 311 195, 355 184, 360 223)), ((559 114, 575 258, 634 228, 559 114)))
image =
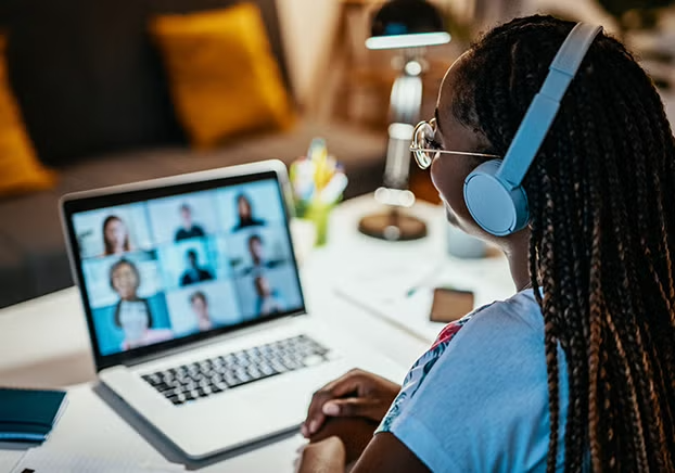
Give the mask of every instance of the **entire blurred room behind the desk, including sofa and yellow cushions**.
MULTIPOLYGON (((431 2, 451 40, 413 64, 421 118, 474 38, 537 12, 623 39, 675 117, 671 0, 431 2)), ((392 85, 406 61, 365 46, 385 3, 0 0, 0 307, 73 284, 58 212, 73 191, 270 157, 291 164, 321 137, 348 177, 344 199, 384 183, 435 202, 428 175, 408 166, 410 137, 398 142, 402 183, 383 179, 392 85)), ((405 123, 410 135, 416 119, 405 123)))

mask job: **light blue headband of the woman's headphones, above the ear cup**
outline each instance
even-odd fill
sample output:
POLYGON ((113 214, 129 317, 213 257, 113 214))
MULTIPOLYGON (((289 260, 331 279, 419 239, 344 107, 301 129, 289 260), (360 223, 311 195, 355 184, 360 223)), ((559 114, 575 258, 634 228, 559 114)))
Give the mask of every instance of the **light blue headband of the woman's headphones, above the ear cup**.
POLYGON ((560 107, 570 82, 576 75, 601 26, 577 23, 570 31, 549 66, 539 92, 530 104, 496 177, 512 188, 527 174, 560 107))

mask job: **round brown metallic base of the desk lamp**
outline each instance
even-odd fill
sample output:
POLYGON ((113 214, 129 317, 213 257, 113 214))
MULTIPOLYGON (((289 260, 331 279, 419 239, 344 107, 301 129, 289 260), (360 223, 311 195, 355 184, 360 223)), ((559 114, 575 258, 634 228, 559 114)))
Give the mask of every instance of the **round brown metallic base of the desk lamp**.
POLYGON ((358 222, 358 231, 389 241, 409 241, 426 237, 426 223, 403 214, 397 207, 385 214, 367 215, 358 222))

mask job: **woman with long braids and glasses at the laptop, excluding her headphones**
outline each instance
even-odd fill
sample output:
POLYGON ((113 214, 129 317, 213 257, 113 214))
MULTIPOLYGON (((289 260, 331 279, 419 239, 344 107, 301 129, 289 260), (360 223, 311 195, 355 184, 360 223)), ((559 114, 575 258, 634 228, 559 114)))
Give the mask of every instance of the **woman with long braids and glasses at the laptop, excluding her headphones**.
POLYGON ((430 153, 432 180, 453 225, 501 247, 518 293, 448 325, 403 387, 357 371, 316 393, 302 472, 675 471, 675 142, 634 57, 595 38, 526 175, 523 230, 487 234, 463 199, 573 26, 488 33, 424 126, 422 148, 470 153, 430 153))

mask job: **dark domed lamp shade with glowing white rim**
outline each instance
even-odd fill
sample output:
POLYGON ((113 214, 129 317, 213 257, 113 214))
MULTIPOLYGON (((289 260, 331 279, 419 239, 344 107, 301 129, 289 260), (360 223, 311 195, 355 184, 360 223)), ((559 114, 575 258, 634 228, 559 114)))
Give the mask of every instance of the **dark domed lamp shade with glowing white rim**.
POLYGON ((368 49, 420 48, 445 44, 450 35, 443 16, 425 0, 392 0, 372 20, 368 49))

